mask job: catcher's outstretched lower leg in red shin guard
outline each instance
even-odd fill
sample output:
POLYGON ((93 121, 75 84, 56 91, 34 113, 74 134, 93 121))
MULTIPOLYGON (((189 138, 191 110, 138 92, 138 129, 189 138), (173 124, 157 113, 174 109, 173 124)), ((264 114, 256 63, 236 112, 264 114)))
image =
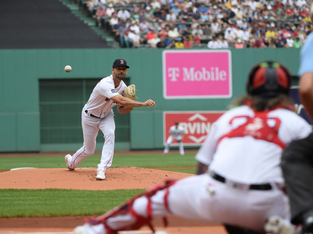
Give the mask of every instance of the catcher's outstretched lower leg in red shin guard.
POLYGON ((164 225, 167 226, 165 216, 170 214, 167 207, 168 187, 176 181, 167 180, 165 183, 146 190, 143 194, 131 198, 126 203, 103 215, 86 220, 86 223, 89 224, 88 229, 90 231, 95 229, 95 233, 99 233, 99 231, 101 232, 99 229, 103 229, 102 232, 115 234, 118 231, 136 230, 148 225, 154 232, 151 225, 152 214, 154 217, 163 216, 164 225))

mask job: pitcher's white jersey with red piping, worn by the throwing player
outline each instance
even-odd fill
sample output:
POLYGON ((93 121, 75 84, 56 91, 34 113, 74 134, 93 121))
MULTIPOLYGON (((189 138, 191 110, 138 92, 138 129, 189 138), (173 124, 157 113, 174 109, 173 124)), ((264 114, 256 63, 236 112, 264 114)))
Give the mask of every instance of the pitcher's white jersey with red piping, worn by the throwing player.
POLYGON ((126 84, 122 80, 119 86, 115 88, 113 75, 103 78, 92 91, 85 109, 100 118, 105 117, 109 112, 113 113, 112 108, 117 103, 110 100, 110 98, 118 94, 123 95, 126 87, 126 84))

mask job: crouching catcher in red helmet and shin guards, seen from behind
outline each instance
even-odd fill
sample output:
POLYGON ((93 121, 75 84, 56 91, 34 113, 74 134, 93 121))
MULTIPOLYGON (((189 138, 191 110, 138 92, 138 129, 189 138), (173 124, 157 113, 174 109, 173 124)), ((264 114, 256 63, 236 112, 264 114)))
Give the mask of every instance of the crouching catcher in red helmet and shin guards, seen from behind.
POLYGON ((312 129, 289 110, 290 83, 291 75, 280 63, 254 66, 248 95, 216 121, 196 154, 199 175, 156 185, 74 231, 110 234, 152 227, 154 217, 173 214, 268 233, 266 221, 276 215, 284 219, 284 228, 270 231, 291 234, 280 158, 286 144, 312 129))

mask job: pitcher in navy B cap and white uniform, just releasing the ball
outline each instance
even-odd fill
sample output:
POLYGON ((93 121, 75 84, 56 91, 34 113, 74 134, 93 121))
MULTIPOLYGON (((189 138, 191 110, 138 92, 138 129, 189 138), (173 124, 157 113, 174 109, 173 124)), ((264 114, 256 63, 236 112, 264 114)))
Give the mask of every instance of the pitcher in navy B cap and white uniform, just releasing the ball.
POLYGON ((100 80, 92 91, 81 114, 84 144, 73 156, 70 154, 65 156, 66 167, 69 170, 74 170, 95 152, 96 137, 100 129, 104 134, 105 143, 96 178, 104 180, 105 170, 111 166, 114 153, 115 122, 112 107, 117 105, 117 111, 126 114, 134 107, 156 106, 150 99, 145 102, 135 101, 135 85, 126 86, 123 82, 128 68, 126 60, 116 59, 112 66, 112 74, 100 80))

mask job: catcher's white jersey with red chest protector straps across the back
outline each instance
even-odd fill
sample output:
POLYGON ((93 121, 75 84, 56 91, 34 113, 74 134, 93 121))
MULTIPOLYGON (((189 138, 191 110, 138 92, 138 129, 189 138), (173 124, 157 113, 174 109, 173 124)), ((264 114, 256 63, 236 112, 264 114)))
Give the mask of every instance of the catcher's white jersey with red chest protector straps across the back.
POLYGON ((310 124, 290 110, 260 113, 240 106, 213 124, 196 159, 228 180, 283 185, 280 159, 285 145, 311 132, 310 124))

